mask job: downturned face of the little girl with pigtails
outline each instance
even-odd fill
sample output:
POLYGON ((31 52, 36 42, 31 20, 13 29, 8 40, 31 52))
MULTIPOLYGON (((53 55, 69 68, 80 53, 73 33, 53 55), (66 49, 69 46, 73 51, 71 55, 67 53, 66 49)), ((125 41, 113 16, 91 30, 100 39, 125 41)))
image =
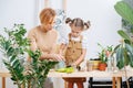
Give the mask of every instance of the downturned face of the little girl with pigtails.
POLYGON ((71 35, 73 37, 80 36, 82 29, 80 26, 71 26, 71 35))

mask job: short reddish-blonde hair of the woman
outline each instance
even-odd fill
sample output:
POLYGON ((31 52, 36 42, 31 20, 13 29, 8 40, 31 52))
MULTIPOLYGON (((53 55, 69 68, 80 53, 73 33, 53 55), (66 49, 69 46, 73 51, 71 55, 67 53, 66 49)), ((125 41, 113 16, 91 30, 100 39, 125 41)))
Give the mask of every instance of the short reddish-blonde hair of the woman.
POLYGON ((55 16, 55 11, 51 8, 45 8, 40 13, 40 22, 49 23, 55 16))

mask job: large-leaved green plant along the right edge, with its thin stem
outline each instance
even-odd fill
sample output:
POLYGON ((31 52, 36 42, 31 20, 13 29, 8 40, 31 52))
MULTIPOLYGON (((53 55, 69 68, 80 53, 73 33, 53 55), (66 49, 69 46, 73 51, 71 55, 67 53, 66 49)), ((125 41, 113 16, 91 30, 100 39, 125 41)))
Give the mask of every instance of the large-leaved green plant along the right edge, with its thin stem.
MULTIPOLYGON (((114 9, 124 20, 133 24, 133 9, 126 2, 124 1, 116 2, 114 9)), ((131 33, 133 31, 131 31, 131 33)), ((122 36, 123 41, 121 42, 121 44, 115 46, 112 56, 115 55, 116 66, 119 67, 119 69, 124 68, 126 76, 126 66, 130 65, 131 67, 133 67, 133 38, 129 34, 126 34, 123 30, 119 30, 117 33, 122 36)), ((129 82, 127 88, 130 88, 129 82)))

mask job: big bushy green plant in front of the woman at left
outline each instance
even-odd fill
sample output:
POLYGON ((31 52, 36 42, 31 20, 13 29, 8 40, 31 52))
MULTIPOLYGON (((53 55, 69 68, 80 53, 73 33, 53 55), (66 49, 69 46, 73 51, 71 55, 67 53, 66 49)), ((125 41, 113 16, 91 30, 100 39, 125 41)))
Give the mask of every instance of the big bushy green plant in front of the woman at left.
POLYGON ((30 51, 23 24, 14 24, 10 30, 4 29, 4 35, 0 35, 0 51, 11 80, 18 88, 42 88, 50 68, 57 62, 40 61, 40 51, 30 51), (32 57, 32 62, 22 61, 27 57, 25 54, 32 57))

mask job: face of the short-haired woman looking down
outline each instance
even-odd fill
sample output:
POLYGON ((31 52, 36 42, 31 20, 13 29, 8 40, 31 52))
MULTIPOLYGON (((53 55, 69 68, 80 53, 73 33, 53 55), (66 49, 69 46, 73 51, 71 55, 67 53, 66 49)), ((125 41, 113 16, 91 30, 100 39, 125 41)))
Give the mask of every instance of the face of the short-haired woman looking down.
POLYGON ((51 19, 48 23, 43 23, 42 28, 44 32, 49 32, 53 29, 54 19, 51 19))

